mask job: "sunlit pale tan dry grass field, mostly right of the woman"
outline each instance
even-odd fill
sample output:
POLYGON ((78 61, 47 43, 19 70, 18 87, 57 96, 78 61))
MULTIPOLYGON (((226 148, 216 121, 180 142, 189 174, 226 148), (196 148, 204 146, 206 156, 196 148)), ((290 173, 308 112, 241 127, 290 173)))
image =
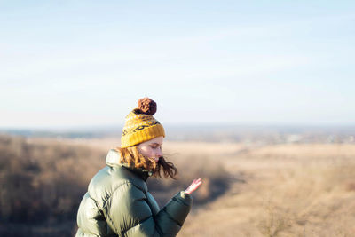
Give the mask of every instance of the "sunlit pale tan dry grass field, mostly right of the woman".
MULTIPOLYGON (((76 140, 101 148, 116 142, 76 140)), ((163 148, 182 175, 207 162, 223 165, 230 177, 228 191, 194 207, 179 236, 355 236, 353 144, 166 142, 163 148)))

